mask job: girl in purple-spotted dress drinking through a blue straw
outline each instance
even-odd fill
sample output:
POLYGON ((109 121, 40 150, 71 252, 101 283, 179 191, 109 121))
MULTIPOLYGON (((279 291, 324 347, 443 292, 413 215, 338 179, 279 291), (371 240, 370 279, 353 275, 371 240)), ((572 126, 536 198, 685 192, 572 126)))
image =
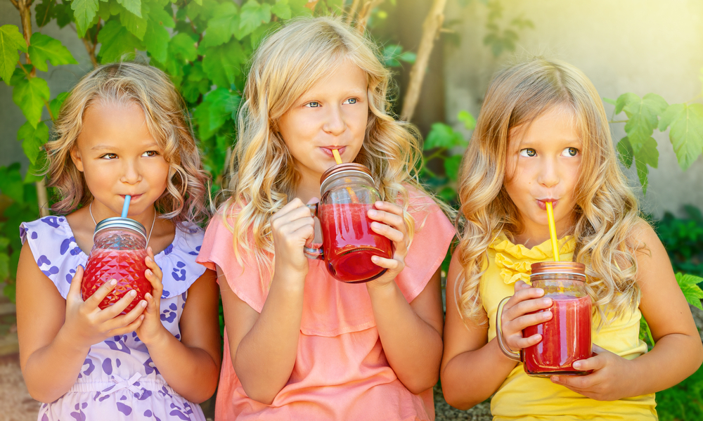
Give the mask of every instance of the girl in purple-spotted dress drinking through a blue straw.
POLYGON ((75 86, 47 143, 58 216, 20 226, 20 365, 39 420, 205 420, 220 366, 217 285, 195 263, 207 178, 168 77, 146 65, 104 65, 75 86), (96 221, 147 227, 151 294, 120 315, 114 286, 85 301, 81 283, 96 221))

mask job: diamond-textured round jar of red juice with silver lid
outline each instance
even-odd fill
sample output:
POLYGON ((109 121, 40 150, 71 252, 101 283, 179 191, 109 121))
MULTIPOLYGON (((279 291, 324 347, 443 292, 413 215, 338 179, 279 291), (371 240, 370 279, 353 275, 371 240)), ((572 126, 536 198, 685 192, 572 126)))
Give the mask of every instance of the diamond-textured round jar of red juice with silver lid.
POLYGON ((83 299, 88 299, 104 283, 115 279, 117 285, 98 306, 101 309, 112 306, 129 290, 134 290, 136 296, 122 311, 122 314, 129 313, 147 292, 152 291, 144 274, 146 257, 146 229, 142 224, 120 217, 98 222, 81 285, 83 299))

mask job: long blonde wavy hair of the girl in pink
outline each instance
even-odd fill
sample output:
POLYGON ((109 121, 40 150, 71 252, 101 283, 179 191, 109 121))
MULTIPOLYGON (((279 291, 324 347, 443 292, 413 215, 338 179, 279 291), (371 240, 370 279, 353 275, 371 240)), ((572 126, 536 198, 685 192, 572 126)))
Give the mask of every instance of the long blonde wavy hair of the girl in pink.
POLYGON ((375 52, 363 35, 340 19, 325 17, 292 20, 266 37, 254 53, 238 115, 223 209, 240 263, 240 250, 253 252, 259 271, 271 270, 270 218, 294 197, 299 179, 293 157, 278 133, 278 120, 343 60, 359 66, 368 81, 366 137, 354 162, 371 170, 383 200, 399 200, 406 211, 408 233, 414 233, 406 186, 426 193, 418 183, 419 136, 413 125, 389 114, 390 74, 375 52), (230 226, 228 217, 234 214, 230 226))

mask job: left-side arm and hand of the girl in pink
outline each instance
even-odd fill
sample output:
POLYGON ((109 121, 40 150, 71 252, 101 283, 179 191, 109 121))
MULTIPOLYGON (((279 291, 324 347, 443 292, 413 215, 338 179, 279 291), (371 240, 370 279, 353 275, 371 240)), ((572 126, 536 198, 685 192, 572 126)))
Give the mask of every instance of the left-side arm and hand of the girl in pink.
POLYGON ((310 209, 302 200, 291 200, 271 216, 271 233, 276 259, 261 314, 237 297, 217 268, 234 370, 247 396, 266 405, 295 365, 309 269, 303 246, 315 235, 310 209))

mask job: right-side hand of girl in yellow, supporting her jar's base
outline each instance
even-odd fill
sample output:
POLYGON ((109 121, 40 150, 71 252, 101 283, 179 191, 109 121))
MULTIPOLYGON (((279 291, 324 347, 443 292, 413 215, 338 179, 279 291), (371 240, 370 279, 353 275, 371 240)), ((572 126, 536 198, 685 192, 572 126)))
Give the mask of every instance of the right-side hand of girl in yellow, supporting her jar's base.
POLYGON ((585 376, 552 376, 552 382, 596 401, 617 401, 632 396, 629 384, 632 376, 628 375, 631 361, 596 344, 593 344, 593 354, 596 355, 574 363, 576 370, 593 370, 593 373, 585 376))

